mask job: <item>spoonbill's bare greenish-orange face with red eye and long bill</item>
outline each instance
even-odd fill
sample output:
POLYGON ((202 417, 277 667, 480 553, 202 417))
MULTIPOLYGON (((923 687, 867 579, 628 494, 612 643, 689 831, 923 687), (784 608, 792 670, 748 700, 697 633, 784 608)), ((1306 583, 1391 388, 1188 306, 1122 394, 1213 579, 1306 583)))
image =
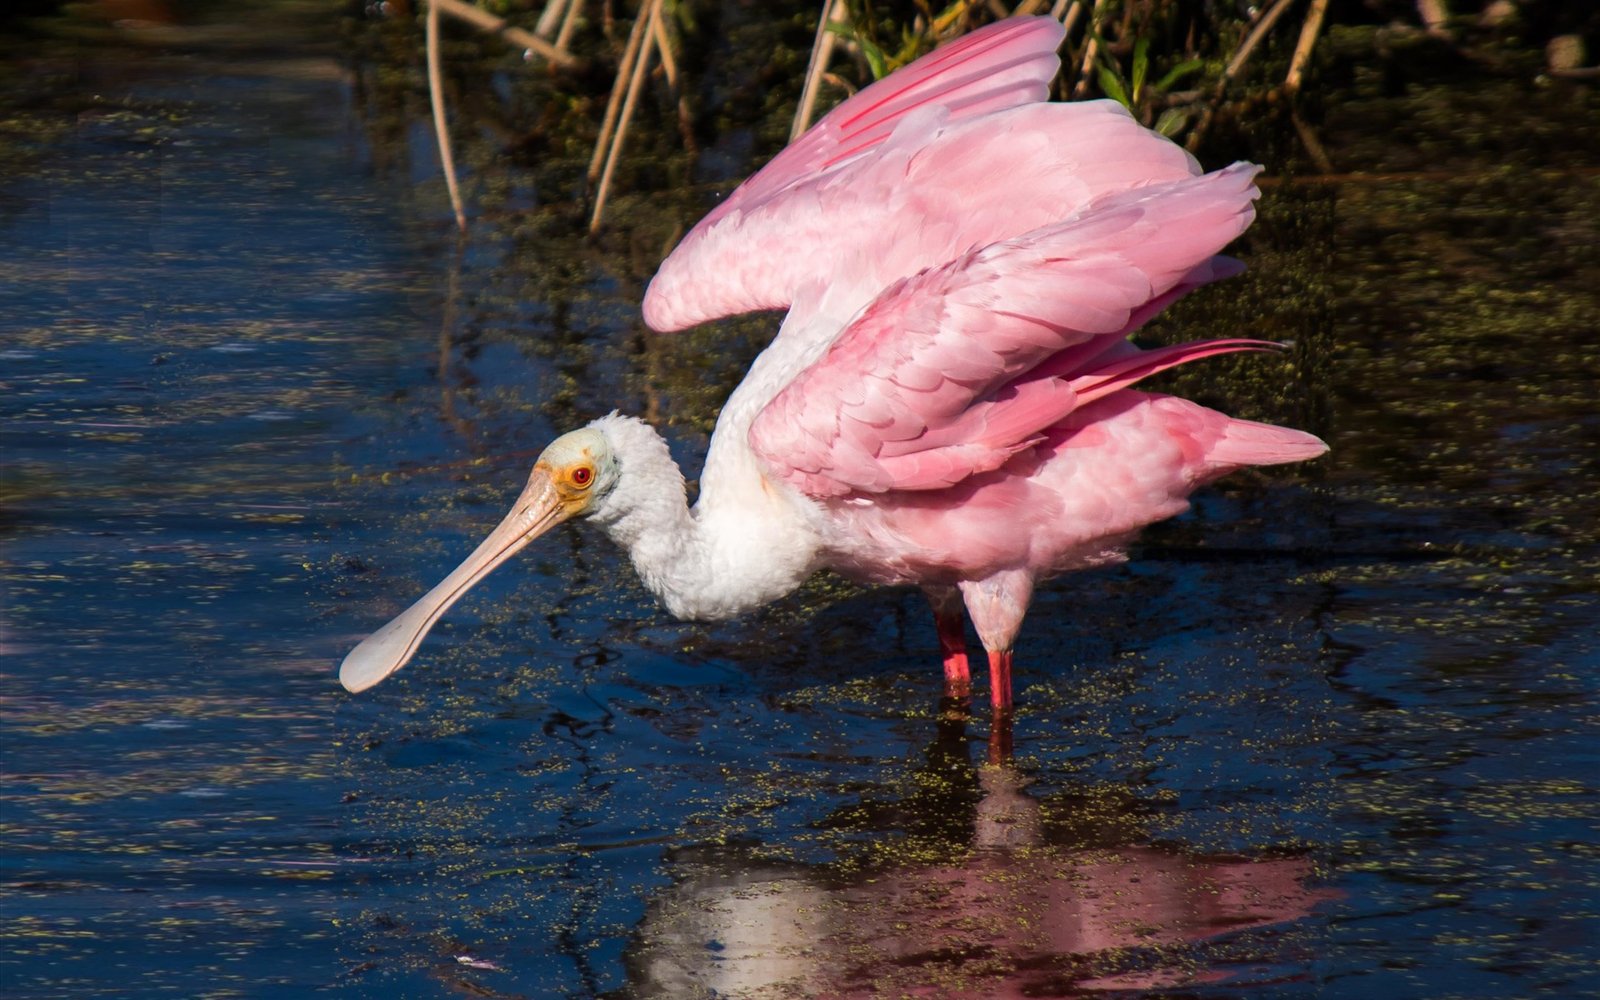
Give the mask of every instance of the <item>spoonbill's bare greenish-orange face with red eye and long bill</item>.
POLYGON ((365 691, 389 677, 416 654, 440 616, 496 566, 562 522, 603 510, 621 480, 616 448, 603 427, 618 419, 627 418, 603 418, 550 442, 510 514, 437 587, 350 650, 339 666, 339 683, 365 691))

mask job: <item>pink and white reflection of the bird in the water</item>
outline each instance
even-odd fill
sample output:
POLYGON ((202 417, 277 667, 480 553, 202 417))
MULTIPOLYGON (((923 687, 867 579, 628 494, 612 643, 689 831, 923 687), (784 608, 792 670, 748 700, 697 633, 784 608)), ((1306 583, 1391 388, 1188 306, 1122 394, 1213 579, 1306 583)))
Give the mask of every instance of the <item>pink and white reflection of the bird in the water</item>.
POLYGON ((973 765, 963 728, 952 706, 926 762, 941 778, 920 782, 938 790, 834 824, 906 843, 946 837, 946 850, 909 848, 902 861, 867 866, 762 861, 750 846, 678 851, 669 859, 675 882, 651 901, 629 949, 627 992, 1077 995, 1216 982, 1240 962, 1280 974, 1294 960, 1261 952, 1288 947, 1282 934, 1240 944, 1240 931, 1298 920, 1330 896, 1309 885, 1306 858, 1138 843, 1130 810, 1077 822, 1058 819, 1072 810, 1051 802, 1046 822, 1045 803, 1000 752, 1008 734, 990 733, 992 760, 973 765), (1208 960, 1198 944, 1224 938, 1227 958, 1208 960))

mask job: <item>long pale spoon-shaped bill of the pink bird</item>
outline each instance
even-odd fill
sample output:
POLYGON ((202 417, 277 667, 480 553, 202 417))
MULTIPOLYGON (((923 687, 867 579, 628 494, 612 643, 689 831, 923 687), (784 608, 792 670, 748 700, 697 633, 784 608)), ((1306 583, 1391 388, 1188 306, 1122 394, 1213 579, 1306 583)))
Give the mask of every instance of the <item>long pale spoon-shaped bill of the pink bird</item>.
POLYGON ((349 691, 365 691, 403 667, 422 645, 427 630, 445 611, 523 546, 566 520, 568 512, 549 477, 534 474, 488 538, 451 570, 437 587, 424 594, 392 622, 378 629, 350 650, 339 666, 339 683, 349 691))

